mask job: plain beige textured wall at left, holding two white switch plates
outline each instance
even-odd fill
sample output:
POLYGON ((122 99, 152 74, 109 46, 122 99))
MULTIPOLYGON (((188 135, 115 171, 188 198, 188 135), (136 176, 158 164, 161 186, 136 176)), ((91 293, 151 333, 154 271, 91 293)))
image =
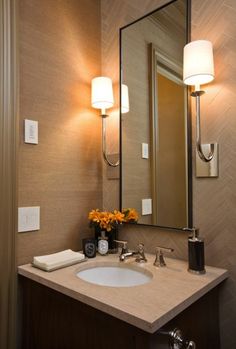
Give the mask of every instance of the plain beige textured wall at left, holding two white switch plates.
POLYGON ((18 263, 72 248, 102 206, 101 120, 90 108, 100 74, 98 0, 21 0, 19 206, 41 207, 41 229, 18 234, 18 263), (23 143, 23 119, 39 145, 23 143))

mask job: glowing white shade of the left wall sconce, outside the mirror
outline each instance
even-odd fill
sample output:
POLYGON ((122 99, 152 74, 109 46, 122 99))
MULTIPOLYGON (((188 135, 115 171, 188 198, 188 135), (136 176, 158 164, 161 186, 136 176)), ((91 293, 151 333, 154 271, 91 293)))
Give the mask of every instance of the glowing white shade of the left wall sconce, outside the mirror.
POLYGON ((97 77, 92 80, 92 107, 108 109, 114 105, 112 80, 107 77, 97 77))

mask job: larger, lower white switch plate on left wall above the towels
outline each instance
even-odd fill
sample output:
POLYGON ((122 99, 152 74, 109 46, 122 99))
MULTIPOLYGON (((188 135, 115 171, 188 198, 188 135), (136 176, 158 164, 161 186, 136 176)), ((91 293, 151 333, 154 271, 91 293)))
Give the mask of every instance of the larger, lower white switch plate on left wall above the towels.
POLYGON ((40 229, 40 207, 18 208, 18 232, 35 231, 40 229))

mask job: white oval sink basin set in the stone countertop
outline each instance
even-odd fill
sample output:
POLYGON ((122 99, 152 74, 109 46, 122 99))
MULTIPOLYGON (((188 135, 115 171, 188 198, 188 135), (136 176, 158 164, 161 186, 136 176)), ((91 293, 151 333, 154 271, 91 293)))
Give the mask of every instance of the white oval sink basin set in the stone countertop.
POLYGON ((150 272, 139 267, 112 265, 93 266, 77 272, 76 276, 92 284, 110 287, 138 286, 146 284, 152 279, 150 272))

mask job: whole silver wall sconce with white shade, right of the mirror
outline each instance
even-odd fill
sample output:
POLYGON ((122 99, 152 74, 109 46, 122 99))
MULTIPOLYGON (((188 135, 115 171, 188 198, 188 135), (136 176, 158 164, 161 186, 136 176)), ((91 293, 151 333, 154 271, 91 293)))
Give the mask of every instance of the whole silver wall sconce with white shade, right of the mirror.
POLYGON ((191 96, 196 99, 196 175, 218 176, 218 144, 201 143, 200 97, 205 92, 200 85, 214 80, 212 43, 207 40, 192 41, 184 47, 184 74, 186 85, 195 86, 191 96))

